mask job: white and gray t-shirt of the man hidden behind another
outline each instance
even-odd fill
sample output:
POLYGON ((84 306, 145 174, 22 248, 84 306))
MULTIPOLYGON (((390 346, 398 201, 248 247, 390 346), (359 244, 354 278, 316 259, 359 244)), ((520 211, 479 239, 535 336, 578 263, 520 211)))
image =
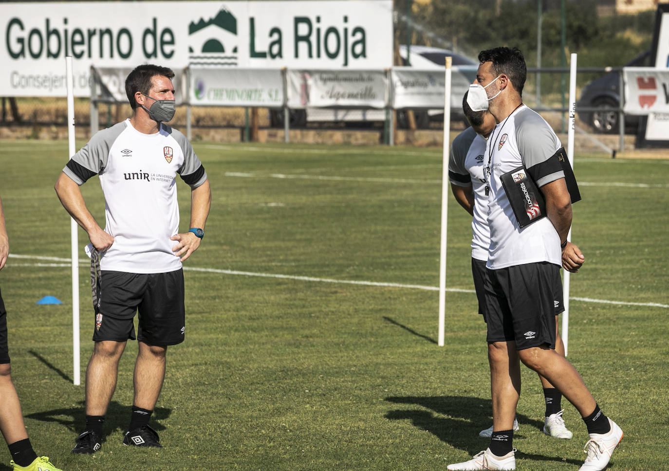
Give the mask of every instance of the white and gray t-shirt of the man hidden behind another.
POLYGON ((467 128, 453 140, 448 160, 448 179, 457 186, 472 187, 474 216, 472 217, 472 258, 488 260, 490 228, 488 228, 488 196, 483 177, 486 140, 467 128))

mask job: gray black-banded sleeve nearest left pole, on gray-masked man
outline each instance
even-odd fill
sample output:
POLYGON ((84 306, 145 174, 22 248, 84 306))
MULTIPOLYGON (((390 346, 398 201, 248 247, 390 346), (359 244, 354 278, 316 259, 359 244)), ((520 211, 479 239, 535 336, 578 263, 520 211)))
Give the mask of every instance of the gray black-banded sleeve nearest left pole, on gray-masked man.
POLYGON ((126 124, 118 123, 111 128, 96 132, 90 141, 72 156, 63 169, 64 174, 72 178, 76 184, 82 185, 88 178, 102 173, 107 166, 109 150, 125 127, 126 124))

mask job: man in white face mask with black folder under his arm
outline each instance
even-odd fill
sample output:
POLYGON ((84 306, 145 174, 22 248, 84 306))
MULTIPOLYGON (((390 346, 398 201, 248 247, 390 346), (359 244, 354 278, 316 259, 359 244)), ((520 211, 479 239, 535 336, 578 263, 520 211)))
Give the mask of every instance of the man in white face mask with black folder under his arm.
POLYGON ((527 76, 522 53, 497 47, 482 51, 478 60, 468 103, 475 111, 488 108, 496 121, 484 154, 490 226, 485 313, 493 432, 487 450, 448 469, 516 468, 513 422, 522 361, 555 385, 581 414, 589 440, 580 471, 603 470, 623 432, 599 410, 571 363, 555 351, 553 287, 559 267, 577 271, 584 261, 577 247, 567 243, 571 195, 560 161, 563 149, 549 124, 522 104, 527 76), (502 176, 510 172, 531 178, 541 189, 546 217, 520 226, 502 186, 502 176))

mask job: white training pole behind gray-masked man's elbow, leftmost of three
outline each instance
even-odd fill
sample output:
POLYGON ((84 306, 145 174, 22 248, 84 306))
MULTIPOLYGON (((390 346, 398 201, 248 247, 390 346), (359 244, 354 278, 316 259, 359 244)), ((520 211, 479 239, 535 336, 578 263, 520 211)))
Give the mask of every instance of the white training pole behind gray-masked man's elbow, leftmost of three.
MULTIPOLYGON (((68 82, 68 138, 70 142, 69 157, 75 153, 74 144, 74 73, 72 73, 72 56, 65 57, 66 79, 68 82)), ((93 130, 91 130, 93 132, 93 130)), ((78 226, 74 218, 70 218, 70 239, 72 241, 72 363, 74 373, 72 382, 81 384, 81 365, 79 354, 79 252, 78 226)))

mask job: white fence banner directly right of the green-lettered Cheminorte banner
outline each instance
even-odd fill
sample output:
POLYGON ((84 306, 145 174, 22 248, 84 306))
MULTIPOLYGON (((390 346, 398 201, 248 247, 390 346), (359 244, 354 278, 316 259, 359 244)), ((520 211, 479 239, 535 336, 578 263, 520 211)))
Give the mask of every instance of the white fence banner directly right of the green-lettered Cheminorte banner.
POLYGON ((385 108, 383 70, 288 70, 288 108, 385 108))

